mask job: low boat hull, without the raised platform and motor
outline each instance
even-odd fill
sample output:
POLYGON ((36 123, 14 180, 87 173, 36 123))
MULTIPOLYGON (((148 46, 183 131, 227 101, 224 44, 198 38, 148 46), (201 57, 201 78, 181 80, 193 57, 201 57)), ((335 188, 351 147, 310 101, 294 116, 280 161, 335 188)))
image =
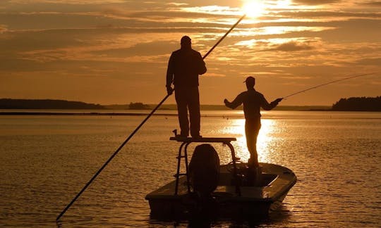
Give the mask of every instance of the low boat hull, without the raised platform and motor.
MULTIPOLYGON (((222 165, 219 186, 210 198, 200 198, 188 193, 186 177, 179 180, 178 194, 175 182, 170 182, 147 194, 151 217, 155 219, 189 218, 197 214, 210 217, 260 219, 276 210, 296 183, 296 175, 286 167, 260 163, 262 175, 256 184, 232 178, 231 165, 222 165), (237 189, 238 185, 238 189, 237 189)), ((238 172, 246 164, 237 164, 238 172)))

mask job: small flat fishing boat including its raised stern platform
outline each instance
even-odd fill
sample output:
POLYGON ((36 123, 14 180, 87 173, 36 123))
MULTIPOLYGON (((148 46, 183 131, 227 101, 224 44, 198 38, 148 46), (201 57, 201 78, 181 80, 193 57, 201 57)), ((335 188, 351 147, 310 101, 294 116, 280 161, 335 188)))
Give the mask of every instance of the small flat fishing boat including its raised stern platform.
MULTIPOLYGON (((262 219, 277 210, 292 186, 296 175, 287 167, 260 163, 260 171, 250 177, 250 167, 236 158, 231 141, 235 138, 171 137, 181 142, 176 179, 145 196, 154 219, 189 218, 195 214, 226 219, 262 219), (188 145, 222 143, 231 149, 231 162, 219 166, 219 178, 210 197, 200 199, 189 177, 188 145), (181 159, 185 173, 180 172, 181 159), (249 178, 250 177, 250 178, 249 178)), ((192 158, 193 159, 193 158, 192 158)), ((192 161, 191 161, 192 163, 192 161)))

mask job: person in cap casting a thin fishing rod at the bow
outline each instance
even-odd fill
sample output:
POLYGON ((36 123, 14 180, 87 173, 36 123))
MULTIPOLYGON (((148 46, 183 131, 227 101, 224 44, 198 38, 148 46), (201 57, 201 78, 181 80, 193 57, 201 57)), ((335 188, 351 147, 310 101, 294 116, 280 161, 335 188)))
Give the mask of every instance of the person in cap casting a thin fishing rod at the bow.
POLYGON ((260 92, 255 91, 255 78, 247 77, 246 80, 247 91, 243 91, 238 94, 234 101, 229 102, 224 99, 225 106, 231 109, 237 108, 243 103, 243 113, 245 115, 245 134, 246 134, 246 144, 248 146, 248 151, 250 152, 250 159, 248 160, 249 167, 259 167, 258 164, 258 153, 257 153, 257 137, 260 130, 260 108, 264 110, 272 110, 275 108, 281 98, 268 103, 260 92))

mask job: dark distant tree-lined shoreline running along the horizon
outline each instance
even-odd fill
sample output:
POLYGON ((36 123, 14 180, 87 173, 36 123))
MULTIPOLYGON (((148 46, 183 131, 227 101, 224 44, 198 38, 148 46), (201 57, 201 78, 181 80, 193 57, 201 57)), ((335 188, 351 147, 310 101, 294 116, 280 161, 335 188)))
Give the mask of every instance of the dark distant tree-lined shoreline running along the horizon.
MULTIPOLYGON (((64 101, 52 99, 0 99, 0 115, 147 115, 150 110, 171 110, 176 111, 176 104, 162 104, 157 107, 155 104, 130 103, 126 105, 102 106, 94 103, 84 103, 81 101, 64 101), (4 110, 1 113, 1 110, 4 110), (20 110, 20 111, 19 111, 20 110), (54 110, 54 111, 51 111, 54 110), (102 111, 101 111, 102 110, 102 111), (145 113, 136 113, 145 112, 145 113), (111 113, 112 112, 112 113, 111 113)), ((226 106, 200 105, 200 110, 231 110, 226 106)), ((243 110, 240 106, 236 110, 243 110)), ((303 110, 303 111, 356 111, 356 112, 380 112, 381 96, 371 97, 351 97, 340 99, 333 106, 277 106, 273 110, 303 110)), ((167 115, 167 114, 156 114, 167 115)), ((172 115, 172 114, 171 114, 172 115)), ((175 114, 173 114, 175 115, 175 114)))

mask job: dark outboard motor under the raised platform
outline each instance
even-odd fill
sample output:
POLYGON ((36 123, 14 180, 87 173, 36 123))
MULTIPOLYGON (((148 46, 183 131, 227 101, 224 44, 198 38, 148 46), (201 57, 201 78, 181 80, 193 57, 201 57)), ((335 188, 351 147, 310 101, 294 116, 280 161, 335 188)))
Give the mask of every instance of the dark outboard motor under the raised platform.
POLYGON ((210 144, 195 147, 189 163, 189 180, 193 191, 201 197, 209 197, 219 180, 219 156, 210 144))

